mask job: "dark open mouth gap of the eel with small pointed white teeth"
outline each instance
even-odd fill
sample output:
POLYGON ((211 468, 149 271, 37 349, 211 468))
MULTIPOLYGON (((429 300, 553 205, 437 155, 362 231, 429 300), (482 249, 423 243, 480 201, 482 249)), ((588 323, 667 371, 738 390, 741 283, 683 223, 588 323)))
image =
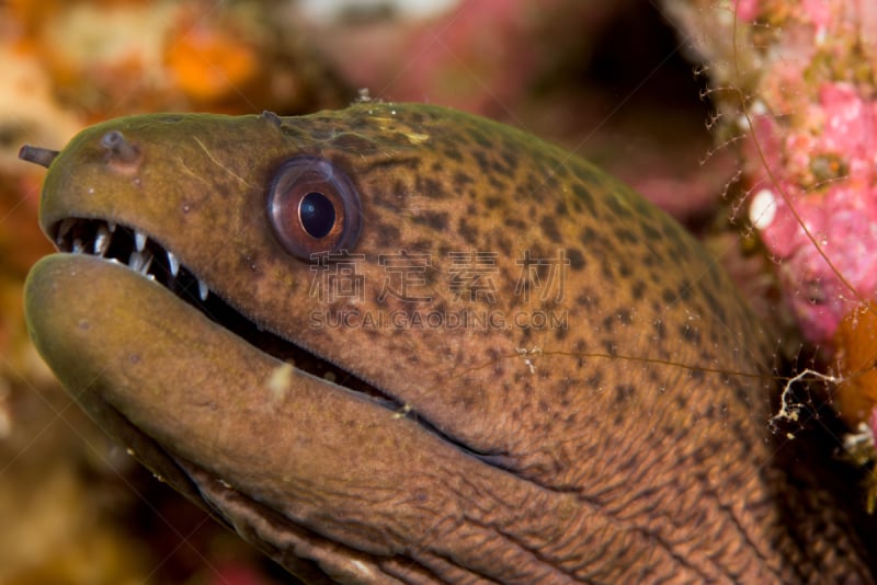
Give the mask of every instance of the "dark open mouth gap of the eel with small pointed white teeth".
POLYGON ((228 305, 179 259, 156 240, 134 228, 103 219, 68 218, 55 223, 52 238, 58 250, 88 254, 125 265, 194 307, 212 321, 235 333, 260 351, 349 390, 367 394, 380 405, 400 410, 402 405, 351 372, 303 349, 296 344, 260 329, 228 305))

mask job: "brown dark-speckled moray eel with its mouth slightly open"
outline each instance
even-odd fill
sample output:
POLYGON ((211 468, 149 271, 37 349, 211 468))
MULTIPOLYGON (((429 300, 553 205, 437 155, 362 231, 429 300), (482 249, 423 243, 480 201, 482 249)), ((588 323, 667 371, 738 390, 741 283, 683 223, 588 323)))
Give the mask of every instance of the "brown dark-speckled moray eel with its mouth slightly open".
POLYGON ((156 114, 48 165, 32 337, 308 582, 872 581, 716 262, 586 161, 426 105, 156 114), (806 461, 805 461, 806 462, 806 461))

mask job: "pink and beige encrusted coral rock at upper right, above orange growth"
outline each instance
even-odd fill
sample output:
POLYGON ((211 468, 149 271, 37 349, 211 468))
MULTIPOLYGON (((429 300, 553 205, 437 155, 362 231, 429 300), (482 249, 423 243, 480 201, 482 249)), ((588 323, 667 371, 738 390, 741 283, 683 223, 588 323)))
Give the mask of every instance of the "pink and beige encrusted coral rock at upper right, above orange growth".
POLYGON ((750 218, 802 335, 830 349, 877 289, 877 2, 665 0, 740 135, 750 218))

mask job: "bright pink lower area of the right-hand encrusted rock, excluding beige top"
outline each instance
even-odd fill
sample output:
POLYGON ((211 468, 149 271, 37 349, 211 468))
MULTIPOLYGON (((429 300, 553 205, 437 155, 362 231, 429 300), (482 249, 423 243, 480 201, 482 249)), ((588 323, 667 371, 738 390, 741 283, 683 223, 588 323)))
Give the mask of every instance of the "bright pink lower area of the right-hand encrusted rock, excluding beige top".
POLYGON ((756 221, 764 244, 802 331, 823 343, 877 289, 877 103, 845 82, 818 94, 810 125, 782 141, 773 118, 754 125, 766 162, 755 181, 776 206, 772 221, 756 221))

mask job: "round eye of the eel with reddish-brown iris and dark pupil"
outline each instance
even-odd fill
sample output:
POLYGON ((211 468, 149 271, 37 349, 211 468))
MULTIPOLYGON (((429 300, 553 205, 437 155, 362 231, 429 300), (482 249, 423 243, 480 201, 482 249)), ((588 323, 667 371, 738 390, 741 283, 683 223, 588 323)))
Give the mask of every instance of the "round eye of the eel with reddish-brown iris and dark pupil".
POLYGON ((280 168, 267 208, 277 239, 303 260, 350 250, 363 222, 360 194, 348 175, 316 157, 296 157, 280 168))

